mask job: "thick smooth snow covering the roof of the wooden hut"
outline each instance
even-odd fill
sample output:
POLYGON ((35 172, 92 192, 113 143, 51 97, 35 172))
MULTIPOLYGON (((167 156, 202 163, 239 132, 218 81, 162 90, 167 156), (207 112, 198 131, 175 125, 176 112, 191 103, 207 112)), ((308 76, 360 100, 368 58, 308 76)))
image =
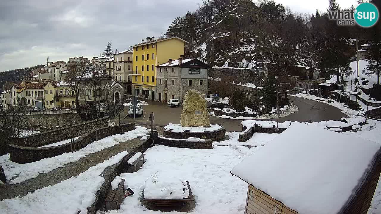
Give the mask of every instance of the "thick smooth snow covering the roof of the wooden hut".
POLYGON ((297 123, 231 172, 299 213, 339 213, 369 173, 380 146, 297 123))

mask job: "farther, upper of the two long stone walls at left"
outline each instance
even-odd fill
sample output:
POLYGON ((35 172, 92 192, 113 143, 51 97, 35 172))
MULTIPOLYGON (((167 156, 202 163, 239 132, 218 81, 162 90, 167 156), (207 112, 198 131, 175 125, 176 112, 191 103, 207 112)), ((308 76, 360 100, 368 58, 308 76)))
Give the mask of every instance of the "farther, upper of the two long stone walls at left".
MULTIPOLYGON (((73 136, 77 137, 93 129, 105 127, 107 126, 108 120, 108 117, 103 117, 97 120, 74 124, 73 136)), ((14 144, 21 147, 40 147, 43 145, 52 144, 54 142, 70 139, 70 132, 70 126, 64 126, 24 137, 14 137, 8 142, 8 144, 14 144)), ((4 146, 2 147, 2 150, 0 150, 0 155, 6 153, 8 153, 8 148, 7 146, 4 146)))

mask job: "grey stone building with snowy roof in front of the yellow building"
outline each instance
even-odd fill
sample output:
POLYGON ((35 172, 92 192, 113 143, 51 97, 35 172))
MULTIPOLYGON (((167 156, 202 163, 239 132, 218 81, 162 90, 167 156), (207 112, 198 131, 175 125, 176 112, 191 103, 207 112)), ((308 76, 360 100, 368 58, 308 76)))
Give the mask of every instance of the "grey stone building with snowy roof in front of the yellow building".
POLYGON ((201 94, 208 91, 208 65, 199 59, 169 59, 157 70, 157 100, 168 102, 169 99, 179 99, 188 89, 195 89, 201 94))

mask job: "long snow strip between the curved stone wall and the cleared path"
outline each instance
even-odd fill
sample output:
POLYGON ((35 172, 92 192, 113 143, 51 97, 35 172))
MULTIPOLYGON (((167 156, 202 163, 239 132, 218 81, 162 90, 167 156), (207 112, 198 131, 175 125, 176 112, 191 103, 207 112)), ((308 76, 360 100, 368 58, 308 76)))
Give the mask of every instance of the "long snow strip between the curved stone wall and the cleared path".
POLYGON ((10 160, 9 153, 0 156, 0 164, 2 164, 7 180, 10 184, 17 184, 25 180, 37 177, 40 173, 47 173, 53 169, 64 167, 64 164, 78 161, 80 158, 86 157, 90 153, 95 153, 103 149, 112 147, 121 142, 141 137, 149 133, 149 129, 136 126, 136 129, 123 134, 115 134, 105 137, 99 141, 87 145, 77 152, 67 152, 52 158, 45 158, 32 163, 19 164, 10 160), (13 180, 11 180, 13 179, 13 180))

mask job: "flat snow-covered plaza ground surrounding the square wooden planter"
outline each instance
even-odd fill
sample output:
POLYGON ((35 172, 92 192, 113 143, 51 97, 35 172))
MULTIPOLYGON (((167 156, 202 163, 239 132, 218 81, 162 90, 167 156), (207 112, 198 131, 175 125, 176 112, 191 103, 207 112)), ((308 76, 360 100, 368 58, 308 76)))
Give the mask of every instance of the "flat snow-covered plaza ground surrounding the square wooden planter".
POLYGON ((156 174, 159 182, 166 179, 167 175, 189 180, 196 203, 192 213, 242 214, 245 210, 247 184, 231 176, 229 169, 256 150, 258 147, 245 146, 214 146, 208 150, 163 145, 151 147, 145 152, 148 158, 141 169, 120 175, 126 179, 125 187, 134 190, 135 194, 126 197, 118 211, 110 213, 159 213, 160 211, 147 210, 140 202, 144 185, 152 182, 152 174, 156 174))

